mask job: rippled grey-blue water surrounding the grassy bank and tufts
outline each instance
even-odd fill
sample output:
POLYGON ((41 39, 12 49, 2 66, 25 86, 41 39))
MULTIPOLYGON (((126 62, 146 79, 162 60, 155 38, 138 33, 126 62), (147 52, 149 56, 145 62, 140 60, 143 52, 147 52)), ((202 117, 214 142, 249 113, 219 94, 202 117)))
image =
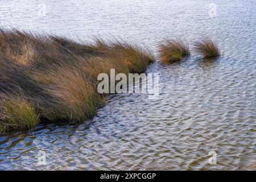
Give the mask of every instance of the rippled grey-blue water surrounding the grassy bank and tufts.
POLYGON ((115 36, 144 42, 155 52, 166 37, 193 43, 208 35, 222 50, 216 60, 192 52, 181 63, 150 65, 148 73, 160 74, 158 100, 115 95, 92 121, 2 135, 0 169, 256 169, 256 1, 0 5, 3 27, 88 41, 115 36), (217 154, 216 165, 208 163, 210 151, 217 154))

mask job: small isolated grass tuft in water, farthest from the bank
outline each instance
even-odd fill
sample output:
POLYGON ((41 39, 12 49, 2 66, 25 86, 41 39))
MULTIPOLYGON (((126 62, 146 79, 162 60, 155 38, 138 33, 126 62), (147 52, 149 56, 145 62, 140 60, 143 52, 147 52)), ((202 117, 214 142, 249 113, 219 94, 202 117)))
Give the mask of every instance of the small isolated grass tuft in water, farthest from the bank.
POLYGON ((200 42, 196 42, 195 51, 203 55, 204 58, 220 56, 220 49, 210 38, 203 38, 200 42))

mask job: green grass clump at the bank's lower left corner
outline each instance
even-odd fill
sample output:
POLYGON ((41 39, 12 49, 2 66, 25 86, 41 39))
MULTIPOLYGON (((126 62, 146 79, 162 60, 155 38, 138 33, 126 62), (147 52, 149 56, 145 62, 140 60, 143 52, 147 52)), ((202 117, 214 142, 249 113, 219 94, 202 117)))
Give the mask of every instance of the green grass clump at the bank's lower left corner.
POLYGON ((30 129, 39 123, 39 115, 26 96, 2 96, 0 133, 10 129, 30 129))

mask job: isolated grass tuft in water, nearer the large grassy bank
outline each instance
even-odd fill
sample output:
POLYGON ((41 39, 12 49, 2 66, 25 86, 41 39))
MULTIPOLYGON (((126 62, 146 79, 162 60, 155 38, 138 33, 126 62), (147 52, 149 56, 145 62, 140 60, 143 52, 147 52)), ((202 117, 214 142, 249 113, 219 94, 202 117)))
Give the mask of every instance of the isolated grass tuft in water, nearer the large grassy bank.
POLYGON ((190 55, 189 47, 179 39, 168 39, 159 45, 160 61, 170 63, 180 61, 190 55))

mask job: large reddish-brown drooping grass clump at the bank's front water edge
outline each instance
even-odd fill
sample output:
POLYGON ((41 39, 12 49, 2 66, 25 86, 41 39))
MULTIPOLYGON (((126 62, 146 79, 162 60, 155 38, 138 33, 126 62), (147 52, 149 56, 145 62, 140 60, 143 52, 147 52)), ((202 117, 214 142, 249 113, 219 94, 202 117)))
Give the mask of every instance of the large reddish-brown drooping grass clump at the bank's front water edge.
POLYGON ((77 121, 96 114, 102 98, 76 68, 59 67, 34 73, 42 89, 53 99, 42 113, 50 121, 77 121))

